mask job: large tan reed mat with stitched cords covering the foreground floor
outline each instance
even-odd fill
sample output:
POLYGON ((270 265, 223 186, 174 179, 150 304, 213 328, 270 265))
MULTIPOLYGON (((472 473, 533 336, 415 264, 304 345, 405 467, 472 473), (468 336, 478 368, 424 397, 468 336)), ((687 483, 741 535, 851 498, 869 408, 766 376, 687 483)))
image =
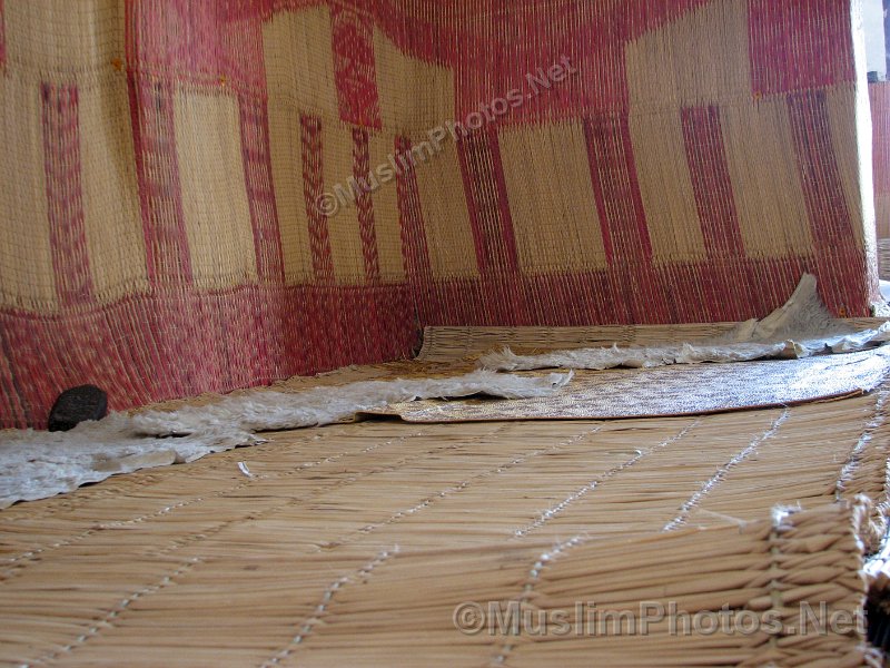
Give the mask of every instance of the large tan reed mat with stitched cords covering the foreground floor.
POLYGON ((0 659, 863 665, 856 633, 510 638, 464 636, 452 615, 502 600, 854 613, 857 536, 874 548, 883 531, 889 392, 645 421, 334 425, 12 507, 0 659), (823 508, 858 494, 876 502, 864 518, 823 508), (777 503, 808 512, 778 532, 777 503))

